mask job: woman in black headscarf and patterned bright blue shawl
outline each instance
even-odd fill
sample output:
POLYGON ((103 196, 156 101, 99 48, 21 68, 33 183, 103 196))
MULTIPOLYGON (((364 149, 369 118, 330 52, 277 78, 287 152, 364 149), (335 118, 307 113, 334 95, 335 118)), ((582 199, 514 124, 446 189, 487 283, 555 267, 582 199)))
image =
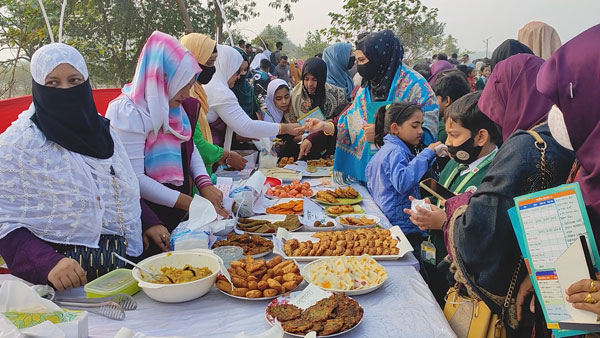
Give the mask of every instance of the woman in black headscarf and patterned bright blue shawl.
POLYGON ((439 106, 435 94, 421 74, 402 64, 403 56, 404 48, 391 30, 371 33, 357 42, 356 60, 363 86, 338 121, 333 166, 336 182, 366 182, 371 147, 363 127, 372 102, 420 105, 424 115, 422 142, 427 145, 437 139, 439 106))

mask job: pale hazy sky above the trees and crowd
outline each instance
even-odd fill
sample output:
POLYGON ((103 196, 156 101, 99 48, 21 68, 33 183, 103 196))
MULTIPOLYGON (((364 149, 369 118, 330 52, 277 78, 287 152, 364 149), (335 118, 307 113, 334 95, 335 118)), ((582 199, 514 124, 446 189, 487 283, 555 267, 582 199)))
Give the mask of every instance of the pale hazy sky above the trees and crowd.
MULTIPOLYGON (((256 0, 258 18, 238 24, 239 28, 260 33, 267 24, 277 25, 281 10, 269 8, 269 0, 256 0)), ((530 21, 553 26, 562 42, 600 23, 598 0, 422 0, 439 9, 438 21, 446 23, 445 32, 458 39, 462 50, 485 52, 483 39, 489 38, 489 54, 502 41, 517 38, 521 27, 530 21), (574 5, 576 3, 576 5, 574 5)), ((327 28, 331 11, 342 12, 343 0, 299 0, 292 5, 294 21, 281 24, 289 38, 304 45, 310 30, 327 28)), ((242 31, 247 37, 255 35, 242 31)))

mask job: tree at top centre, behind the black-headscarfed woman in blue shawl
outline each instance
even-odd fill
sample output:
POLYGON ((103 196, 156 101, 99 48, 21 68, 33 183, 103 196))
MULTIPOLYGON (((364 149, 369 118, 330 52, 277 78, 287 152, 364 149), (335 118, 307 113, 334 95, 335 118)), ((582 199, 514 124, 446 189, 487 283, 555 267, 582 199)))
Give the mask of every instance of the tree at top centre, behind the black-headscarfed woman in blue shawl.
POLYGON ((402 41, 405 59, 416 60, 439 47, 444 23, 437 8, 421 0, 344 0, 344 13, 329 13, 331 27, 321 30, 328 41, 354 42, 361 32, 392 29, 402 41))

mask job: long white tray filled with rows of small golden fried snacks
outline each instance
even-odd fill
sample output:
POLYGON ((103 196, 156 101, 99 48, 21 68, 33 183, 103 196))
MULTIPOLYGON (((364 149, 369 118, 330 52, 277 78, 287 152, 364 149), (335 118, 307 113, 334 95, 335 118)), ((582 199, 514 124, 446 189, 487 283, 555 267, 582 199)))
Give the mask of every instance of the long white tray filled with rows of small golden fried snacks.
POLYGON ((359 228, 343 231, 289 232, 278 229, 273 252, 300 262, 331 256, 361 256, 396 260, 412 251, 400 227, 359 228))

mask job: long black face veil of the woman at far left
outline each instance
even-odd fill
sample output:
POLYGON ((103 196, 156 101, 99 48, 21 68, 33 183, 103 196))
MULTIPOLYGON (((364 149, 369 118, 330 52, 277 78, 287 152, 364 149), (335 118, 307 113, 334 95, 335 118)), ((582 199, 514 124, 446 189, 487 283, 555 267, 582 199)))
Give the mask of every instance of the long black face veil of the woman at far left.
POLYGON ((33 81, 32 94, 35 114, 31 120, 48 140, 94 158, 113 155, 110 121, 98 115, 89 80, 66 89, 33 81))

